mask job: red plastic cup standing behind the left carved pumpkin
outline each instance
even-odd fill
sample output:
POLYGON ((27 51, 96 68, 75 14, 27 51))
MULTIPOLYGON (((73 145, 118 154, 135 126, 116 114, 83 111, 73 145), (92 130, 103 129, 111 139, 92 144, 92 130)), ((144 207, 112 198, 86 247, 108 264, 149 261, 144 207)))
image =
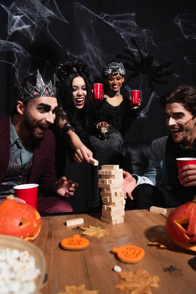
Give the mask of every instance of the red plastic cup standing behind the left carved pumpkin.
POLYGON ((14 187, 15 196, 37 209, 38 184, 25 184, 14 187))

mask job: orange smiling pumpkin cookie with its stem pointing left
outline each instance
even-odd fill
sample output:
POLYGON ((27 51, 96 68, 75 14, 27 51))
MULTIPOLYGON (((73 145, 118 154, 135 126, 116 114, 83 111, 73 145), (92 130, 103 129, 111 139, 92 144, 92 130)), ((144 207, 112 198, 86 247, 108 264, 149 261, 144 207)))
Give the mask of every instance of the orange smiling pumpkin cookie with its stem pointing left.
POLYGON ((111 252, 116 253, 117 258, 120 261, 131 264, 140 262, 140 260, 145 255, 144 249, 133 245, 126 245, 120 248, 113 248, 111 252))

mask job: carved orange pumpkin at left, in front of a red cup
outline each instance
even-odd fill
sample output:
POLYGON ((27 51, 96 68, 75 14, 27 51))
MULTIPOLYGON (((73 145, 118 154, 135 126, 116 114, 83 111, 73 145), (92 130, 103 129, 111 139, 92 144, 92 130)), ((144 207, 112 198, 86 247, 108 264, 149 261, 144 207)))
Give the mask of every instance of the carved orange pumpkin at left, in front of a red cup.
POLYGON ((26 203, 4 200, 0 204, 0 235, 33 241, 41 229, 38 211, 26 203))

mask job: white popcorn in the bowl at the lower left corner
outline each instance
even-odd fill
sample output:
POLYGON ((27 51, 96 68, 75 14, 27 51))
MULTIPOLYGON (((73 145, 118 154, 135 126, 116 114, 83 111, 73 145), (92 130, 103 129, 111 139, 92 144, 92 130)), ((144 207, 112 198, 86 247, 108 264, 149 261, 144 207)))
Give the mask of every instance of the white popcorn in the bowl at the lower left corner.
POLYGON ((33 294, 40 273, 28 251, 0 249, 0 294, 33 294))

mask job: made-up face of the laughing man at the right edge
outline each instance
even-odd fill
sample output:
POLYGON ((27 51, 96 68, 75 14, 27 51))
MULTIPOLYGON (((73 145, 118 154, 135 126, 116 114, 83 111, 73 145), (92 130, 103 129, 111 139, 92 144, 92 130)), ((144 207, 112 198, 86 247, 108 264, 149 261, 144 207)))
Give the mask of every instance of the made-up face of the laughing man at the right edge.
POLYGON ((175 143, 183 140, 189 141, 193 132, 196 132, 195 124, 196 118, 184 108, 182 103, 173 102, 166 104, 166 125, 170 129, 175 143))

